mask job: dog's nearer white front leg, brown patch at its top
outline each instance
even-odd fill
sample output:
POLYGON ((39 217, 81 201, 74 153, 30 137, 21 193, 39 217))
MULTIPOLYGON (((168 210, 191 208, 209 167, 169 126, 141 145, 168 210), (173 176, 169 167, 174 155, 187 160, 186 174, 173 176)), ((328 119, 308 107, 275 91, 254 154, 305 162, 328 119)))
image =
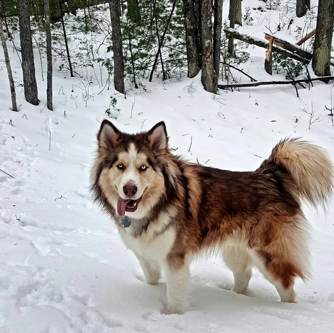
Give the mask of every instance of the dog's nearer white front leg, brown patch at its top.
POLYGON ((166 314, 183 314, 188 310, 189 265, 185 257, 172 258, 165 267, 167 284, 166 314))

